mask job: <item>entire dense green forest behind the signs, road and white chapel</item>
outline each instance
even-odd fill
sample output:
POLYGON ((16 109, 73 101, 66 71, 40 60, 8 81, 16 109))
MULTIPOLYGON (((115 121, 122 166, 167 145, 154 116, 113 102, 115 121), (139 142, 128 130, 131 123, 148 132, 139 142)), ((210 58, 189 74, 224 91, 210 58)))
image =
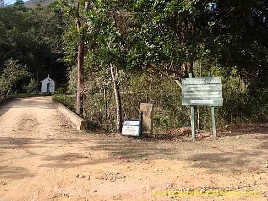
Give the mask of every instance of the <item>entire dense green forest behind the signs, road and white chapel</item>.
MULTIPOLYGON (((140 103, 154 104, 155 132, 188 126, 181 79, 208 71, 223 81, 218 126, 267 121, 267 0, 17 0, 0 4, 0 30, 2 98, 50 74, 89 129, 120 132, 140 103)), ((197 116, 210 128, 208 107, 197 116)))

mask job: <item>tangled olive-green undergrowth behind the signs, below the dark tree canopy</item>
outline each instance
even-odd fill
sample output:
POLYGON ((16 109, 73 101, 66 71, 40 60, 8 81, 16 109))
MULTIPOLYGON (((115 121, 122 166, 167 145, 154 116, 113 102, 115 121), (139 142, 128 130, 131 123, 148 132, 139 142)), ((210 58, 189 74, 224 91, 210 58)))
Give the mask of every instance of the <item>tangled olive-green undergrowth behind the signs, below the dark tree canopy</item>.
MULTIPOLYGON (((268 90, 249 90, 239 79, 235 68, 226 73, 213 68, 213 76, 221 76, 224 104, 216 107, 217 127, 244 121, 267 122, 268 90)), ((203 75, 206 76, 206 75, 203 75)), ((85 83, 82 116, 90 129, 116 131, 116 108, 111 82, 99 77, 85 83)), ((175 81, 161 75, 141 72, 120 78, 123 120, 138 119, 140 103, 154 104, 155 133, 190 126, 190 107, 181 104, 181 88, 175 81)), ((75 111, 75 97, 55 95, 56 100, 75 111)), ((199 129, 211 129, 211 108, 196 107, 195 120, 199 129)))

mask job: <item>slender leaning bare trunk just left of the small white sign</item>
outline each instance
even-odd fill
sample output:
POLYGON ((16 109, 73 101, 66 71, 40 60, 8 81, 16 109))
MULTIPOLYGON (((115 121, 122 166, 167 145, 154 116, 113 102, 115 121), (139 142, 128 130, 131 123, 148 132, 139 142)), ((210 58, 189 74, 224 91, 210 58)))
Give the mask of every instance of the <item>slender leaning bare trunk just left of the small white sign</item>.
POLYGON ((122 102, 120 98, 119 86, 116 80, 117 70, 114 65, 110 65, 111 75, 112 75, 112 82, 115 92, 115 101, 116 101, 116 132, 122 132, 122 102))

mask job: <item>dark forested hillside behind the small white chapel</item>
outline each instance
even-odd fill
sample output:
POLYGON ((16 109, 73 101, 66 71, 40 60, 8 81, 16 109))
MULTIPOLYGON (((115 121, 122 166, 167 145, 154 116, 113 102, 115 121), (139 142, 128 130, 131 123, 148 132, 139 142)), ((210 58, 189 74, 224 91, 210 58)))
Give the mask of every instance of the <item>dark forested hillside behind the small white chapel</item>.
MULTIPOLYGON (((33 92, 48 74, 58 86, 66 83, 66 67, 59 61, 63 56, 61 35, 64 27, 61 12, 53 6, 31 9, 24 7, 22 1, 10 6, 1 5, 0 70, 7 68, 9 71, 8 63, 16 61, 19 69, 21 65, 28 72, 26 77, 14 80, 11 91, 33 92)), ((2 75, 0 79, 3 83, 8 78, 2 75)), ((5 95, 6 90, 1 89, 1 96, 5 95)))

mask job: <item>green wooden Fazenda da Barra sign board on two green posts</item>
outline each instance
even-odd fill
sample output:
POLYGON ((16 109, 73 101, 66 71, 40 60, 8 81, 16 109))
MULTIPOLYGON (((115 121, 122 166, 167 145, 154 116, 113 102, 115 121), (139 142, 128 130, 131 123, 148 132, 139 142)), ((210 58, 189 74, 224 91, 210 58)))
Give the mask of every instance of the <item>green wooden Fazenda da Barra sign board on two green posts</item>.
POLYGON ((195 140, 194 106, 211 106, 212 131, 216 137, 216 121, 214 106, 222 106, 222 83, 221 77, 189 78, 182 79, 182 105, 191 106, 191 135, 195 140))

